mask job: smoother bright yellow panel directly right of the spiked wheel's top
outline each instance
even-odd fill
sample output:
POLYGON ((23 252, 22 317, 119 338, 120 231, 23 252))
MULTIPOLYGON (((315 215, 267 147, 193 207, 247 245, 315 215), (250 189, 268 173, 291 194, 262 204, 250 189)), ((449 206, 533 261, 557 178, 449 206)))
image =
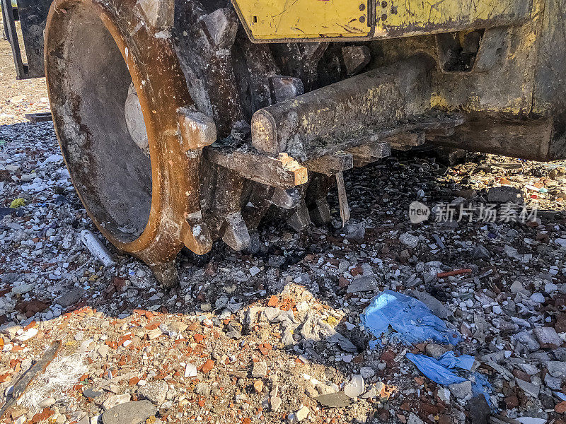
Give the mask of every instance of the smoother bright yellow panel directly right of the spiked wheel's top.
POLYGON ((369 35, 366 0, 233 0, 255 40, 369 35))

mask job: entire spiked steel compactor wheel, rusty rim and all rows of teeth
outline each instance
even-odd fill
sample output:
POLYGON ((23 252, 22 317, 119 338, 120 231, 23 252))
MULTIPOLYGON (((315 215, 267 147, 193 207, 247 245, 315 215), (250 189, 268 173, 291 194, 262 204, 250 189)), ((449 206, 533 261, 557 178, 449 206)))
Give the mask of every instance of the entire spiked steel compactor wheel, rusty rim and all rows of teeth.
POLYGON ((171 4, 54 0, 45 33, 54 125, 76 191, 100 232, 168 287, 183 246, 258 249, 271 208, 294 230, 328 223, 333 181, 305 184, 306 167, 250 142, 254 112, 300 95, 303 80, 316 88, 326 44, 253 45, 226 0, 181 1, 175 16, 171 4))

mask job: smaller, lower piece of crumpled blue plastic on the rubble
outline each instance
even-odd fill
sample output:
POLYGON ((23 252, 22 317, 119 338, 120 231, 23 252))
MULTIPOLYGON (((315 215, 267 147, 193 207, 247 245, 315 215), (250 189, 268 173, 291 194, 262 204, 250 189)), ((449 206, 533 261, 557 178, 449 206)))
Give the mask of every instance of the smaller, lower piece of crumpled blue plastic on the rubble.
POLYGON ((421 355, 420 353, 417 355, 407 353, 405 356, 414 363, 425 376, 432 379, 433 382, 443 385, 465 382, 465 378, 458 377, 454 372, 451 372, 451 369, 458 367, 469 371, 474 361, 473 356, 461 355, 460 357, 456 357, 454 352, 446 352, 438 359, 421 355))

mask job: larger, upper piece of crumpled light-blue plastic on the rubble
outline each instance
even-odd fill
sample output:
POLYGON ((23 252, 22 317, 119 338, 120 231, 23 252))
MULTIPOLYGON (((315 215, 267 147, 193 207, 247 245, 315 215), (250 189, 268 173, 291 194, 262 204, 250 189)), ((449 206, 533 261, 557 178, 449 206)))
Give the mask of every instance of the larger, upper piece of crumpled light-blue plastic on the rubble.
MULTIPOLYGON (((427 340, 456 345, 461 336, 448 329, 444 321, 432 314, 423 302, 402 293, 385 290, 373 298, 360 317, 362 324, 378 339, 388 332, 389 326, 403 343, 422 343, 427 340)), ((380 341, 370 341, 375 348, 380 341)))

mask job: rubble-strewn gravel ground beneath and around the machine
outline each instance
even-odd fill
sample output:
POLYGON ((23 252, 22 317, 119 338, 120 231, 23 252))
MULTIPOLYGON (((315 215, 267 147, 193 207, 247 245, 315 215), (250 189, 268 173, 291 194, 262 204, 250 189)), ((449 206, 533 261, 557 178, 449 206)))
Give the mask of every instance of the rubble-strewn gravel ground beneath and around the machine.
POLYGON ((1 396, 62 348, 1 422, 565 423, 564 163, 398 154, 346 175, 345 228, 272 218, 258 254, 180 254, 166 292, 139 261, 108 246, 104 267, 83 245, 82 230, 100 234, 52 124, 24 118, 47 110, 45 81, 14 76, 0 40, 1 396), (413 201, 437 207, 414 224, 413 201), (384 290, 419 298, 461 341, 371 334, 361 314, 384 290), (461 384, 407 356, 449 351, 475 358, 461 384))

